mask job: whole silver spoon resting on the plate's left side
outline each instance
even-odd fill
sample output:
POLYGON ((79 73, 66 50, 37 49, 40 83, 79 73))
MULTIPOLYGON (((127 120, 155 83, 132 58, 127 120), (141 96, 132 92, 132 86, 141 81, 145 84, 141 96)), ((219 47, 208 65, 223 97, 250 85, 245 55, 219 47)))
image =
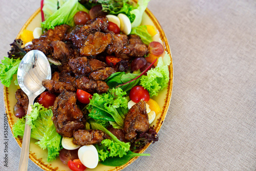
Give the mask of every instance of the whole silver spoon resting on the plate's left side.
MULTIPOLYGON (((30 115, 31 105, 34 103, 35 98, 45 91, 42 86, 42 80, 51 79, 50 63, 46 55, 38 50, 29 51, 19 63, 17 79, 20 89, 29 98, 27 115, 30 115)), ((30 133, 30 126, 25 124, 22 152, 20 153, 18 166, 20 171, 28 170, 30 133)))

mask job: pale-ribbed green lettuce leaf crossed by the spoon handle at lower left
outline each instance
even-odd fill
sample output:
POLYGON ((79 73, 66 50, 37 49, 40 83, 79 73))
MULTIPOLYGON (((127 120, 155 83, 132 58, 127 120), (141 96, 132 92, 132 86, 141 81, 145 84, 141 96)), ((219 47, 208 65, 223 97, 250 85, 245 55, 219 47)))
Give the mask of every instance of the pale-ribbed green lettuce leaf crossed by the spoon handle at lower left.
POLYGON ((51 119, 52 116, 51 109, 44 108, 39 103, 34 103, 30 115, 18 119, 13 125, 14 137, 23 136, 27 118, 27 124, 31 127, 31 138, 39 140, 35 144, 48 150, 48 162, 56 159, 56 156, 59 155, 61 143, 61 136, 56 132, 51 119))

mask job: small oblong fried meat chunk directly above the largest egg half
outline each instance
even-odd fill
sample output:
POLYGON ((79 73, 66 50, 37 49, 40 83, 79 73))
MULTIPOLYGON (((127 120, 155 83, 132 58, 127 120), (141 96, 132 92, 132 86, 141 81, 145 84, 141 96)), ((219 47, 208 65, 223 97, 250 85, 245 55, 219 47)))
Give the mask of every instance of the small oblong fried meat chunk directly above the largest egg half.
POLYGON ((98 144, 106 138, 110 137, 100 130, 78 130, 74 132, 73 143, 77 145, 98 144))

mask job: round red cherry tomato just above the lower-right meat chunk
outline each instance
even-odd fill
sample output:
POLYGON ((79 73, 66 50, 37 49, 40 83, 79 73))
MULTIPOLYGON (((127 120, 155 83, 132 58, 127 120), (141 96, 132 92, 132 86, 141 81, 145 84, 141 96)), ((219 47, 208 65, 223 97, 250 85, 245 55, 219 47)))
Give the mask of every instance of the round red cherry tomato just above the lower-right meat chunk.
POLYGON ((150 93, 141 86, 135 86, 131 89, 129 97, 135 103, 138 103, 141 99, 144 101, 150 100, 150 93))

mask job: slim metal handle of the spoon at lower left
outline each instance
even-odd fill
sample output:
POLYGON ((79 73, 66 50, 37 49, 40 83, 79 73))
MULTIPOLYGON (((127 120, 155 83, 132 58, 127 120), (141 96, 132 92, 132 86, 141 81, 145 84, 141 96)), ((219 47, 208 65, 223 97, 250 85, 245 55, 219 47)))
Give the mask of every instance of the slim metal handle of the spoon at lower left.
MULTIPOLYGON (((32 103, 31 103, 31 100, 29 99, 27 115, 30 115, 30 112, 32 110, 31 105, 33 104, 33 102, 34 102, 34 99, 32 103)), ((24 136, 22 141, 22 152, 20 153, 19 165, 18 165, 19 171, 28 170, 30 133, 31 133, 31 128, 30 128, 30 125, 27 124, 27 119, 26 119, 24 136)))

